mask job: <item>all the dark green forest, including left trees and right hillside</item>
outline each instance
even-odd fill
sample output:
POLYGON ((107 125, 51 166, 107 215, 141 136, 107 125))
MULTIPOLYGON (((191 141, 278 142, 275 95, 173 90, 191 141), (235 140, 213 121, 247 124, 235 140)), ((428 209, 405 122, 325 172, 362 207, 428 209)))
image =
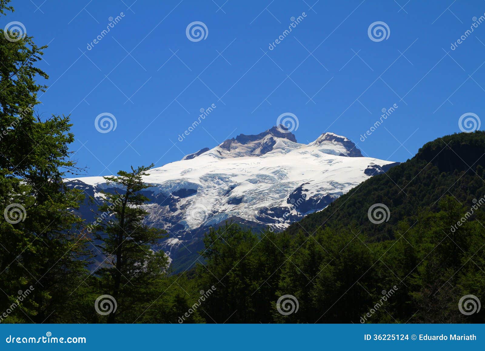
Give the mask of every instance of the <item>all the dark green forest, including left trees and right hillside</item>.
MULTIPOLYGON (((0 0, 0 17, 13 10, 0 0)), ((157 250, 165 233, 144 225, 153 165, 107 177, 118 190, 104 194, 98 225, 77 216, 85 194, 63 182, 83 171, 70 118, 36 114, 47 47, 8 35, 0 29, 0 323, 485 322, 459 308, 467 295, 485 301, 485 132, 431 141, 282 233, 210 229, 200 257, 172 274, 157 250), (388 208, 382 222, 374 204, 388 208), (93 270, 95 256, 105 260, 93 270)))

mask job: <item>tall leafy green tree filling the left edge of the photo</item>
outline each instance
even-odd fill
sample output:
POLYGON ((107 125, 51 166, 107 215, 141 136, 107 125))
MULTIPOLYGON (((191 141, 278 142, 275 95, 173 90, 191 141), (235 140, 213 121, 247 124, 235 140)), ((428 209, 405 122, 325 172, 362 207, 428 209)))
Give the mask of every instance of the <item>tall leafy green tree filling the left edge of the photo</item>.
MULTIPOLYGON (((1 15, 13 11, 8 2, 0 2, 1 15)), ((71 212, 82 195, 62 181, 78 169, 69 158, 69 117, 34 112, 46 88, 35 79, 48 78, 34 64, 45 48, 31 36, 7 40, 0 29, 0 311, 10 311, 4 322, 46 321, 74 298, 66 292, 81 284, 89 258, 81 218, 71 212)))

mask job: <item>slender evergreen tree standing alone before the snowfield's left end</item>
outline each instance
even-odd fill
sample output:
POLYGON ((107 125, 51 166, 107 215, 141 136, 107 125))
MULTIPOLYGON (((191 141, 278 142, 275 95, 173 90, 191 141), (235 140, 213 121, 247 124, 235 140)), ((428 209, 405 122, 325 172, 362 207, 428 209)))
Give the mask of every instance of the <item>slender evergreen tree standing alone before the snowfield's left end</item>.
POLYGON ((131 172, 120 170, 117 176, 104 177, 117 185, 113 193, 103 192, 106 201, 98 209, 104 220, 99 220, 95 235, 106 257, 97 274, 117 304, 108 315, 109 323, 136 320, 168 268, 165 252, 152 250, 165 231, 143 223, 148 212, 142 205, 149 199, 142 192, 150 187, 143 177, 151 167, 131 167, 131 172))

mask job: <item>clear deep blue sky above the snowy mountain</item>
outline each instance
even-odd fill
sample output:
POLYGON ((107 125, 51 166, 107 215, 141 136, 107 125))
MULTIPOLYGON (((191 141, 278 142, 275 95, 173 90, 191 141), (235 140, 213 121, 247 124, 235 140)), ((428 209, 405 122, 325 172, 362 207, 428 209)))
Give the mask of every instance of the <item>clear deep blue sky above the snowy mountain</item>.
POLYGON ((0 24, 20 21, 38 45, 49 44, 39 67, 50 87, 39 112, 71 114, 72 150, 89 175, 162 166, 228 137, 258 134, 286 112, 298 117, 293 133, 299 142, 333 132, 357 142, 366 155, 393 161, 460 132, 464 113, 485 116, 485 23, 451 50, 473 17, 484 14, 484 1, 12 4, 16 12, 0 24), (124 17, 88 50, 120 13, 124 17), (269 50, 291 17, 302 13, 306 17, 269 50), (205 39, 186 36, 194 21, 207 26, 205 39), (387 39, 368 36, 376 21, 388 25, 387 39), (178 135, 211 104, 217 107, 180 142, 178 135), (398 108, 361 142, 393 104, 398 108), (117 126, 99 133, 94 121, 105 112, 117 126))

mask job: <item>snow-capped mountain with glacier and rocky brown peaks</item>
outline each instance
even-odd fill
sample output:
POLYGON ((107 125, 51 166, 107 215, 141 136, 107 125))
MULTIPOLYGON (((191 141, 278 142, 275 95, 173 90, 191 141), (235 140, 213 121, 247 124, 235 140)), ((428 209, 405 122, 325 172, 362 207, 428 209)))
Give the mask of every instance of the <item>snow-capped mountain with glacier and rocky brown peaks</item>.
MULTIPOLYGON (((177 260, 178 249, 201 245, 209 226, 235 219, 283 230, 397 164, 363 157, 351 140, 333 133, 309 144, 298 143, 281 125, 240 134, 148 171, 145 181, 153 186, 146 190, 147 221, 168 231, 170 238, 162 244, 177 260)), ((108 189, 103 177, 67 183, 97 201, 102 201, 99 190, 108 189)))

